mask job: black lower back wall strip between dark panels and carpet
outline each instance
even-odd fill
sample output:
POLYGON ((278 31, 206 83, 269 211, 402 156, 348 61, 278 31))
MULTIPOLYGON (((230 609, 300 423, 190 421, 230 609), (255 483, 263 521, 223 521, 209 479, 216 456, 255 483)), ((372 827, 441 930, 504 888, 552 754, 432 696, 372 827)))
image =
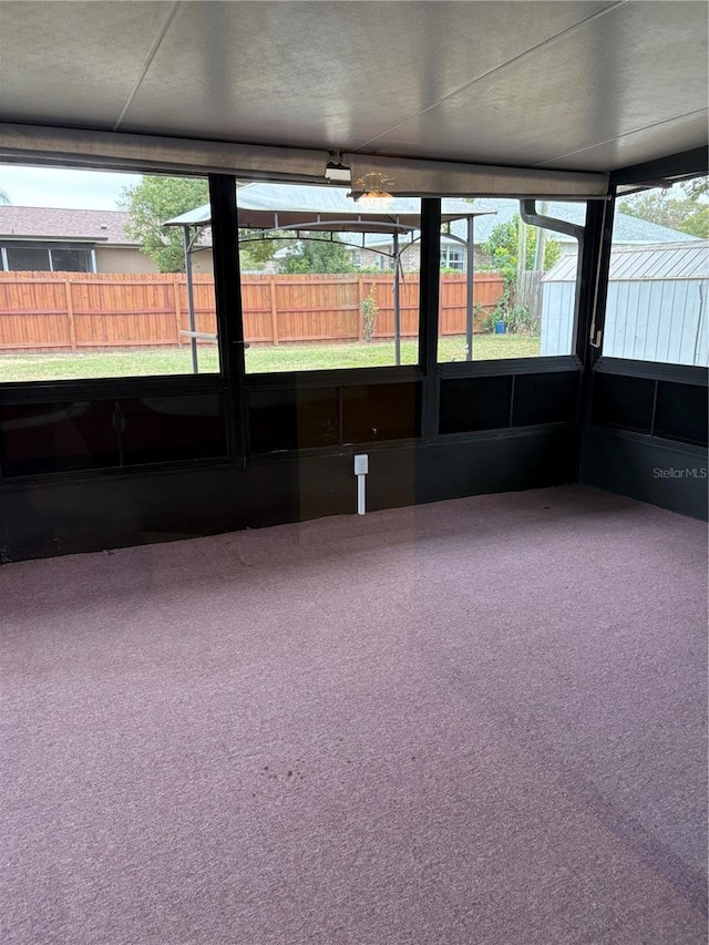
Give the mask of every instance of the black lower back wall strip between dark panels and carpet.
MULTIPOLYGON (((322 515, 353 514, 354 449, 240 464, 6 482, 0 562, 100 551, 322 515)), ((368 509, 573 482, 574 425, 474 442, 372 448, 368 509)), ((415 514, 415 513, 412 513, 415 514)))

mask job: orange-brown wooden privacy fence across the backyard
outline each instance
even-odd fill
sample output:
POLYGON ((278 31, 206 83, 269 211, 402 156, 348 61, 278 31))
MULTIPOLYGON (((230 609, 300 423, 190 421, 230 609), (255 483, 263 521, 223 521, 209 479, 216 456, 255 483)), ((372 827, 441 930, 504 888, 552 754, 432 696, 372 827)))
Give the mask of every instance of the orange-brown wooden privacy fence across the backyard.
MULTIPOLYGON (((195 275, 196 330, 216 332, 214 277, 195 275)), ((497 273, 475 274, 475 328, 503 291, 497 273)), ((465 276, 441 277, 441 335, 465 332, 465 276)), ((374 338, 393 337, 391 275, 245 275, 244 332, 253 345, 357 341, 360 304, 373 298, 374 338)), ((402 337, 419 330, 419 276, 400 285, 402 337)), ((0 351, 185 346, 183 274, 0 273, 0 351)))

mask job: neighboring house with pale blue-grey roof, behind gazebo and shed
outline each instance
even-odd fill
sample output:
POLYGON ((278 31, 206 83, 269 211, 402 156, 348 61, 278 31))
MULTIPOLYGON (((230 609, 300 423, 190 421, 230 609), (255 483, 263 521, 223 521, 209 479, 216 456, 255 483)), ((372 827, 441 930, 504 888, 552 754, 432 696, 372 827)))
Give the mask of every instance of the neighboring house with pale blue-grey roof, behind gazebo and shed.
MULTIPOLYGON (((443 201, 445 208, 445 199, 443 201)), ((487 212, 484 216, 475 217, 474 234, 475 234, 475 266, 490 264, 490 257, 483 253, 482 246, 485 244, 495 226, 501 223, 508 223, 520 213, 520 201, 514 199, 479 199, 471 204, 473 212, 487 212), (490 210, 493 213, 491 214, 490 210)), ((537 209, 542 209, 542 202, 537 202, 537 209)), ((548 202, 544 207, 544 215, 563 219, 567 223, 584 224, 585 204, 568 203, 564 201, 548 202)), ((466 224, 464 219, 454 220, 451 224, 451 233, 453 236, 465 238, 466 224)), ((418 235, 418 234, 417 234, 418 235)), ((571 236, 563 233, 549 233, 561 246, 562 256, 575 255, 577 243, 571 236)), ((667 226, 659 226, 656 223, 640 219, 639 217, 630 216, 629 214, 616 213, 613 240, 614 246, 647 246, 659 243, 695 243, 699 237, 688 233, 681 233, 678 229, 670 229, 667 226)), ((362 244, 361 234, 342 234, 342 239, 358 243, 358 248, 352 249, 352 263, 356 267, 377 266, 378 268, 389 267, 389 257, 382 256, 377 250, 391 253, 391 237, 368 235, 362 244)), ((419 243, 414 243, 411 249, 407 250, 402 258, 404 269, 419 268, 419 243)), ((441 265, 452 269, 465 271, 465 246, 456 239, 451 239, 444 233, 441 234, 441 265)))

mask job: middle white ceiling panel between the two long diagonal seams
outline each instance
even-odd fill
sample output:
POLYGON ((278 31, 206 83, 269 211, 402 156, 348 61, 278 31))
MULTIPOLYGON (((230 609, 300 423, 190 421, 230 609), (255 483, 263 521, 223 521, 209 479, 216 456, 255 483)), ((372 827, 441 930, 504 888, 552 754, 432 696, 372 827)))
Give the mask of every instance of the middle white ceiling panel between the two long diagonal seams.
POLYGON ((123 126, 351 150, 608 6, 185 4, 123 126))

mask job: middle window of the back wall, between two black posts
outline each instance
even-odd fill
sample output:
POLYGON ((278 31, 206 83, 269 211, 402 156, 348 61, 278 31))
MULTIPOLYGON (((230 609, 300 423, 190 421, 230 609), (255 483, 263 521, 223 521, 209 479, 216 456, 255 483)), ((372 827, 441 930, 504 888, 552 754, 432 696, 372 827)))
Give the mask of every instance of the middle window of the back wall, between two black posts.
POLYGON ((421 202, 368 207, 348 189, 238 188, 248 373, 418 363, 419 275, 403 253, 419 232, 421 202), (363 234, 376 259, 367 271, 357 268, 363 234))

